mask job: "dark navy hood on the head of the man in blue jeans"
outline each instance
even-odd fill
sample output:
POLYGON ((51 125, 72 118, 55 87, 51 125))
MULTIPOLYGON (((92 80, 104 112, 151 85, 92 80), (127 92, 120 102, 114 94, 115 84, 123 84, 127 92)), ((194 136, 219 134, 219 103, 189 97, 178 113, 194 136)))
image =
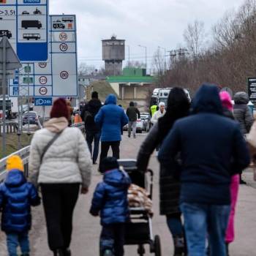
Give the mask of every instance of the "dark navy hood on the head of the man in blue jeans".
POLYGON ((192 101, 192 113, 203 112, 223 114, 217 86, 203 84, 195 94, 195 98, 192 101))

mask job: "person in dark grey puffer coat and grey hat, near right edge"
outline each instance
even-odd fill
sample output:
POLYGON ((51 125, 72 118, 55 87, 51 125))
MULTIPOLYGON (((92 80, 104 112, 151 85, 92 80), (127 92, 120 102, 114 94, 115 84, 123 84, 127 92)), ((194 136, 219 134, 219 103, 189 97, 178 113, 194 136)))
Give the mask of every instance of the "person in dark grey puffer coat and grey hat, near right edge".
POLYGON ((241 132, 243 134, 249 133, 253 124, 253 116, 247 104, 249 102, 248 94, 245 92, 238 92, 234 97, 234 116, 240 124, 241 132))

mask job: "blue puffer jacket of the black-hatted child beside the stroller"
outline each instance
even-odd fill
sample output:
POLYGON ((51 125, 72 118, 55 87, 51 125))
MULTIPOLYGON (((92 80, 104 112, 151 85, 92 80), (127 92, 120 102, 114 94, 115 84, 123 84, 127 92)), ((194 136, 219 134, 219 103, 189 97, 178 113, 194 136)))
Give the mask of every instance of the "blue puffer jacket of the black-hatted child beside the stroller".
POLYGON ((97 185, 91 201, 91 214, 100 211, 102 225, 124 223, 129 220, 127 191, 131 180, 124 171, 114 169, 104 174, 103 182, 97 185))

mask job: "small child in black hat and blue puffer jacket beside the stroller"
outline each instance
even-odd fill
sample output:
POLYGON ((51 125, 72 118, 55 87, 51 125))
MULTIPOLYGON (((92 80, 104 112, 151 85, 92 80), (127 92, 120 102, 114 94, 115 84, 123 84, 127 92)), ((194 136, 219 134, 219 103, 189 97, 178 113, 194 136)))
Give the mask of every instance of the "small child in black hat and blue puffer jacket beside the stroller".
POLYGON ((98 216, 100 211, 102 256, 124 255, 125 223, 129 220, 127 192, 131 180, 118 167, 114 157, 102 160, 100 171, 104 173, 103 181, 97 185, 91 202, 90 213, 98 216))

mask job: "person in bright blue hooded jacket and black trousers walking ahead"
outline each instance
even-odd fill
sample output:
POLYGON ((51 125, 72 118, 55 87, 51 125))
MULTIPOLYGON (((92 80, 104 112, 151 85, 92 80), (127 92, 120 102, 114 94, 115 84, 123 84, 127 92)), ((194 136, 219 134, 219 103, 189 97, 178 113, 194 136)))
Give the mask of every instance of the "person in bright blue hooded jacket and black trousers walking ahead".
POLYGON ((94 121, 101 128, 101 154, 99 159, 99 170, 102 159, 108 156, 111 146, 113 157, 119 159, 121 127, 128 124, 128 117, 124 110, 116 105, 117 99, 114 94, 109 94, 105 100, 105 105, 100 108, 94 121))

